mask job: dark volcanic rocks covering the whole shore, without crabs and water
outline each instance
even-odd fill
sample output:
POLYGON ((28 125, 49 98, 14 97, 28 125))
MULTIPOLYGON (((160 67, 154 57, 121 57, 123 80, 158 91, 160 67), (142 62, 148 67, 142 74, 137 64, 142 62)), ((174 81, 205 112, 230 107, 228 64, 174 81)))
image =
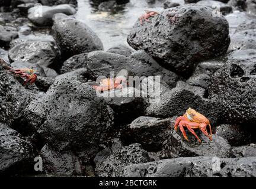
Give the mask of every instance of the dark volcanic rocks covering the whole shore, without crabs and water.
POLYGON ((0 58, 37 74, 24 86, 0 64, 0 175, 256 177, 255 1, 145 2, 165 9, 135 19, 130 47, 104 50, 75 0, 0 0, 0 58), (99 96, 92 86, 111 71, 159 85, 159 100, 130 86, 110 93, 133 96, 99 96), (188 107, 210 120, 212 141, 174 130, 188 107))

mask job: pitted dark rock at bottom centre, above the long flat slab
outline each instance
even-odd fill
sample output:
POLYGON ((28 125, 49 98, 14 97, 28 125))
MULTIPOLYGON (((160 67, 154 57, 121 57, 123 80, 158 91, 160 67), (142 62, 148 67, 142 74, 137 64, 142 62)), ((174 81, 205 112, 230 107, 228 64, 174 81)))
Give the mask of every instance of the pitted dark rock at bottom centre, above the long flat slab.
POLYGON ((114 151, 102 162, 98 162, 95 171, 99 177, 120 177, 121 170, 126 165, 149 162, 148 152, 140 148, 139 144, 131 144, 114 151))

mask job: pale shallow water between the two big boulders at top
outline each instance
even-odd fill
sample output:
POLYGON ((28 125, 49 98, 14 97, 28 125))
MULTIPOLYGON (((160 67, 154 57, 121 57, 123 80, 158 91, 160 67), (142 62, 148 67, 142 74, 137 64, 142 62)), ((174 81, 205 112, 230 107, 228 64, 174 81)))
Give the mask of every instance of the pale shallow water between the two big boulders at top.
MULTIPOLYGON (((180 0, 177 0, 180 1, 180 0)), ((181 0, 180 2, 183 2, 181 0)), ((145 14, 145 9, 162 11, 163 2, 156 1, 148 5, 146 0, 130 0, 124 5, 123 10, 117 13, 100 12, 95 9, 91 0, 78 0, 78 12, 76 18, 85 22, 94 32, 97 33, 107 50, 117 44, 127 44, 126 36, 135 24, 140 15, 145 14)))

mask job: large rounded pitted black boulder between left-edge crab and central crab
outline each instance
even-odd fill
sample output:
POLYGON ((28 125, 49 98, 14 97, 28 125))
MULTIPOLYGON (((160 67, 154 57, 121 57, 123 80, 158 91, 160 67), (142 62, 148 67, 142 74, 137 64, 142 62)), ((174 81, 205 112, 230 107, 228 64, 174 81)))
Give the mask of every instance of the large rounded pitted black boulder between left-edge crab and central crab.
POLYGON ((87 84, 57 80, 40 99, 25 109, 28 125, 55 151, 71 151, 89 161, 107 141, 113 125, 112 110, 87 84))

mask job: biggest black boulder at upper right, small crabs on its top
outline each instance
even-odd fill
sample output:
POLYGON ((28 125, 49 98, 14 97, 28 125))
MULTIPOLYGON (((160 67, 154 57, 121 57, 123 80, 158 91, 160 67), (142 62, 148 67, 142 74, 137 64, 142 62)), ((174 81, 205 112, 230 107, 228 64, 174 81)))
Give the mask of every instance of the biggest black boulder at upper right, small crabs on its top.
POLYGON ((223 16, 213 17, 212 12, 212 8, 194 4, 167 9, 150 18, 150 23, 137 21, 127 42, 188 77, 198 61, 220 56, 228 49, 228 22, 223 16))

